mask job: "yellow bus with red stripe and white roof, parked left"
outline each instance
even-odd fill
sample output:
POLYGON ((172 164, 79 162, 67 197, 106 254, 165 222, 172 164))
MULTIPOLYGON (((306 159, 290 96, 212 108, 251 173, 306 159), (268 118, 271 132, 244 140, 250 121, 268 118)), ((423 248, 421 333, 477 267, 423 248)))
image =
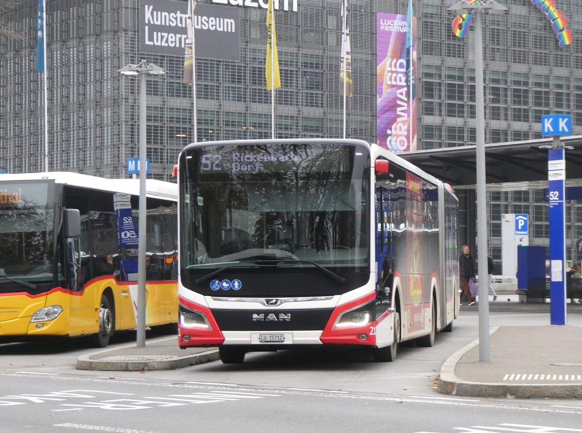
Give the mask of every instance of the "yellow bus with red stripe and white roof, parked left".
MULTIPOLYGON (((146 325, 178 322, 177 186, 147 179, 146 325)), ((0 175, 0 342, 136 328, 139 181, 0 175)), ((159 328, 158 328, 159 329, 159 328)))

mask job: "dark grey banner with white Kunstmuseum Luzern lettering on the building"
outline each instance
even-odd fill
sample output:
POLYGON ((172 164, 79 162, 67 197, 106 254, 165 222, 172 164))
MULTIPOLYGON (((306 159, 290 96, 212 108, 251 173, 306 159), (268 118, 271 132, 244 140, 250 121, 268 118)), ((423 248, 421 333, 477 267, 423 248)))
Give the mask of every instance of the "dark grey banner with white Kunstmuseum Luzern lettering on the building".
MULTIPOLYGON (((187 2, 140 0, 140 52, 184 57, 187 2)), ((240 61, 240 9, 197 2, 196 58, 240 61)))

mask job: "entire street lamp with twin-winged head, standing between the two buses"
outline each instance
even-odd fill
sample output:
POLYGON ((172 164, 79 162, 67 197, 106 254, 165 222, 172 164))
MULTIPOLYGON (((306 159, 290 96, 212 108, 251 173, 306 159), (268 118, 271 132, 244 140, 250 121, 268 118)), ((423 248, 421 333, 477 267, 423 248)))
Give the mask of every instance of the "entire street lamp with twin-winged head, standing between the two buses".
POLYGON ((139 198, 139 228, 137 245, 137 347, 145 347, 145 239, 147 226, 146 201, 145 201, 145 175, 147 174, 147 149, 145 146, 145 78, 147 74, 163 75, 168 73, 152 63, 147 64, 145 60, 139 64, 127 64, 118 71, 122 75, 140 76, 140 146, 139 146, 139 172, 140 172, 140 198, 139 198))

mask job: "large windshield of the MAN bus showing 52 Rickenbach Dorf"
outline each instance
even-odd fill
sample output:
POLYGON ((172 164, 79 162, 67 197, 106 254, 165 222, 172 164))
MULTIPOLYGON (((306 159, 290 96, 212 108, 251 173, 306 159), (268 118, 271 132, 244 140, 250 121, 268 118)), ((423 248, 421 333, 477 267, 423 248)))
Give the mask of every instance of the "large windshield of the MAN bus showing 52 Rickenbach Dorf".
POLYGON ((367 148, 221 144, 191 147, 181 157, 183 272, 275 265, 369 270, 367 148))

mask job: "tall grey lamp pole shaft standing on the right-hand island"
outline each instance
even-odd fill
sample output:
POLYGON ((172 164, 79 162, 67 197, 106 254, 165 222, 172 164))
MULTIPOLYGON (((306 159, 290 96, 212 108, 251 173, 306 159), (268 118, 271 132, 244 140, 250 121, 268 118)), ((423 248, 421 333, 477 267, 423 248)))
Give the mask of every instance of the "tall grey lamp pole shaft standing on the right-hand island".
POLYGON ((487 193, 485 191, 485 101, 481 10, 475 10, 475 103, 477 128, 477 251, 479 275, 479 361, 490 361, 489 282, 487 273, 487 193))

